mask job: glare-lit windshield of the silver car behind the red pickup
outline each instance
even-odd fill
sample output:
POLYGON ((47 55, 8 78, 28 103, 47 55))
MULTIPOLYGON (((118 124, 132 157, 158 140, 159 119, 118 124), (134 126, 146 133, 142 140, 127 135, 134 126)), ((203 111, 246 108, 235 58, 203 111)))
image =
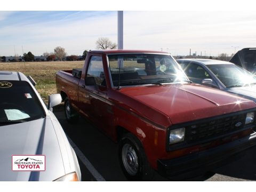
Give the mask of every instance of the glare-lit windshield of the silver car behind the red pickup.
POLYGON ((256 84, 256 78, 236 65, 207 65, 226 87, 256 84))

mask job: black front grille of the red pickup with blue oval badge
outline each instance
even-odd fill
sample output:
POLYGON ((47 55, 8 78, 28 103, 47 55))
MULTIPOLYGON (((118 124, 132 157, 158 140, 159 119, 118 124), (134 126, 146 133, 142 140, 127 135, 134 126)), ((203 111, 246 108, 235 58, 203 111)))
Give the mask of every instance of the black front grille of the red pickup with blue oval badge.
POLYGON ((185 126, 185 140, 191 143, 243 129, 245 118, 246 113, 185 126))

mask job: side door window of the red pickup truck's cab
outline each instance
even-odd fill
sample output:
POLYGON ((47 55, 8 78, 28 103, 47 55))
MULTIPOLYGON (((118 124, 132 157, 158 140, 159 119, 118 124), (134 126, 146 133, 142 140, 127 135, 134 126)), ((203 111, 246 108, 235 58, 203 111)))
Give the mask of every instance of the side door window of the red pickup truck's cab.
POLYGON ((97 85, 106 86, 102 57, 91 57, 86 77, 94 77, 97 85))

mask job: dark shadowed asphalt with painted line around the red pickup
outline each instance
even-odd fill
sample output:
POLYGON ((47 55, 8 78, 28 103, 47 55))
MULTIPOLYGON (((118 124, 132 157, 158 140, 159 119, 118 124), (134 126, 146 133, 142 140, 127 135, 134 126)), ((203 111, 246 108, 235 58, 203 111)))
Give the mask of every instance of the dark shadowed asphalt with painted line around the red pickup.
MULTIPOLYGON (((118 162, 118 145, 82 117, 77 124, 68 124, 63 106, 56 112, 60 124, 76 151, 82 181, 127 181, 118 162)), ((219 167, 207 175, 187 181, 255 181, 256 147, 247 150, 238 160, 219 167)), ((156 174, 155 181, 171 181, 156 174)))

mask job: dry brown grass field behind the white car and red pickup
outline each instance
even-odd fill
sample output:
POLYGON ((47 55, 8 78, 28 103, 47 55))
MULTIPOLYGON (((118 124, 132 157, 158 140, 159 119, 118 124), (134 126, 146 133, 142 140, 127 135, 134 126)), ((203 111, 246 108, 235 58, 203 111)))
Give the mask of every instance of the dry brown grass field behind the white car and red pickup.
POLYGON ((58 70, 82 68, 84 61, 46 61, 0 63, 0 70, 20 71, 36 81, 36 89, 47 102, 48 95, 57 93, 55 74, 58 70))

